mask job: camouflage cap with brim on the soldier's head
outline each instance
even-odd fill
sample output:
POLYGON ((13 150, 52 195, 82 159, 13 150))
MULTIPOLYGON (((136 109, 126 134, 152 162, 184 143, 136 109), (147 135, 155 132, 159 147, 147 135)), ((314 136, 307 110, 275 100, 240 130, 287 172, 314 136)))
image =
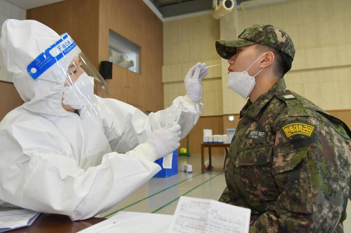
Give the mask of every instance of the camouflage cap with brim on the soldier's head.
POLYGON ((292 39, 282 29, 270 24, 255 24, 246 28, 237 39, 217 40, 215 47, 219 56, 229 59, 236 54, 236 47, 244 47, 255 43, 276 48, 294 58, 295 48, 292 39))

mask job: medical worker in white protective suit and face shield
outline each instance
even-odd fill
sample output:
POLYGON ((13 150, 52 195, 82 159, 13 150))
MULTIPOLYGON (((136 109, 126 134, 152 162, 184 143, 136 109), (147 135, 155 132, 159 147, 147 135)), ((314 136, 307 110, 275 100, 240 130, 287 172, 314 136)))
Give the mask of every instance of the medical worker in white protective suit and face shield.
POLYGON ((161 169, 154 161, 176 150, 202 111, 204 63, 189 70, 185 97, 147 116, 93 95, 109 87, 68 34, 35 20, 8 19, 0 49, 25 102, 0 123, 2 206, 72 220, 105 212, 161 169), (165 127, 179 106, 178 124, 165 127))

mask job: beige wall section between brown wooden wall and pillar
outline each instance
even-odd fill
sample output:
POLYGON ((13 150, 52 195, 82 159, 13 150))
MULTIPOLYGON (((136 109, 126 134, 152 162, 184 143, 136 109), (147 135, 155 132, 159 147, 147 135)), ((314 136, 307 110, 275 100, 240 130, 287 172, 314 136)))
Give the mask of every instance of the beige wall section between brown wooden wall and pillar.
MULTIPOLYGON (((162 81, 164 107, 177 96, 185 95, 184 78, 197 62, 220 63, 215 51, 219 39, 219 19, 211 14, 163 22, 162 81)), ((209 69, 202 81, 202 99, 206 106, 201 116, 220 116, 222 110, 221 67, 209 69)))

